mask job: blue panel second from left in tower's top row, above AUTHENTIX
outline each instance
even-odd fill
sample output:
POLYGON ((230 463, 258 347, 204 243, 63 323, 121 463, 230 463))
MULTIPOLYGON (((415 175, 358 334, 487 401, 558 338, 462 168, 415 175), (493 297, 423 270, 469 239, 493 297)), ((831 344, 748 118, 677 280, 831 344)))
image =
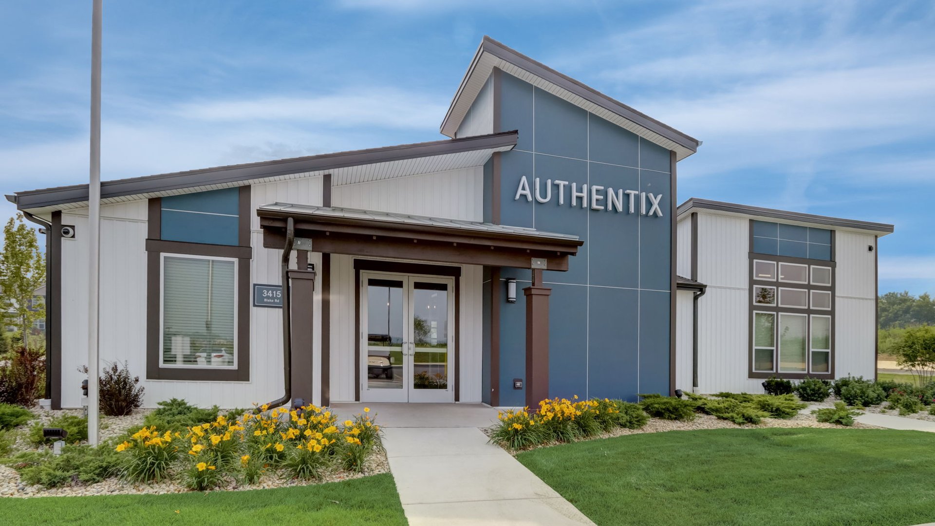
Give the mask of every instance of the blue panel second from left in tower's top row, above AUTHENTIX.
POLYGON ((587 159, 587 111, 536 88, 535 151, 587 159))

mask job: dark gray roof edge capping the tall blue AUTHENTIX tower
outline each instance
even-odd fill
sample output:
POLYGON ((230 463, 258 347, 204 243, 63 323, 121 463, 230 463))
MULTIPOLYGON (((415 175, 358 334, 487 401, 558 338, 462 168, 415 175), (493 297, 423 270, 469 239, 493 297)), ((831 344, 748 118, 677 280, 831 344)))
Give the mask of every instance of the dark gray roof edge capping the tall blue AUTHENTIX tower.
POLYGON ((640 126, 648 130, 654 131, 655 133, 661 135, 662 137, 669 139, 672 142, 679 144, 680 146, 683 146, 683 148, 687 148, 692 153, 695 153, 698 151, 698 146, 701 144, 701 141, 699 141, 698 139, 695 139, 673 128, 669 124, 665 124, 665 123, 662 123, 661 121, 657 121, 654 118, 650 117, 649 115, 646 115, 645 113, 639 110, 635 110, 627 106, 623 102, 620 102, 619 100, 612 98, 611 96, 604 95, 598 92, 596 89, 592 88, 591 86, 588 86, 587 84, 584 84, 582 81, 572 79, 571 77, 568 77, 568 75, 565 75, 564 73, 556 71, 553 68, 546 66, 540 63, 539 61, 533 58, 530 58, 526 56, 525 54, 519 51, 516 51, 510 48, 509 46, 506 46, 502 42, 498 42, 495 39, 488 37, 486 35, 483 37, 481 46, 478 48, 477 53, 474 55, 474 59, 471 61, 471 64, 468 67, 468 72, 465 74, 465 77, 461 80, 461 85, 458 86, 458 91, 455 93, 454 98, 452 100, 452 104, 451 106, 449 106, 448 112, 445 114, 445 119, 441 123, 442 128, 445 126, 445 123, 448 121, 449 117, 451 116, 454 105, 457 102, 458 98, 460 97, 461 92, 464 89, 464 85, 468 80, 468 77, 470 76, 471 72, 474 70, 474 66, 476 66, 477 62, 481 59, 481 55, 484 51, 491 53, 497 58, 510 62, 511 64, 515 66, 522 67, 526 71, 529 71, 530 73, 533 73, 534 75, 544 80, 548 80, 554 83, 555 85, 561 88, 564 88, 575 95, 579 95, 583 99, 589 102, 592 102, 594 104, 597 104, 597 106, 600 106, 601 108, 604 108, 605 110, 612 111, 620 115, 621 117, 624 117, 625 119, 629 121, 632 121, 633 123, 639 124, 640 126))

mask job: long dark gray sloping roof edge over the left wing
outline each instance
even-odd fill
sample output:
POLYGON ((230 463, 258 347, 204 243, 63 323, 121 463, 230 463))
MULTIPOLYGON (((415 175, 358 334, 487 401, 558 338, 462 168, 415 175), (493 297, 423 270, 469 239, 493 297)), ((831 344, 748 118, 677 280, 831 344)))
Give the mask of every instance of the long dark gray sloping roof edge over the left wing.
MULTIPOLYGON (((129 179, 118 179, 101 183, 101 197, 132 196, 209 184, 251 181, 253 179, 305 171, 346 168, 449 153, 511 147, 516 145, 518 137, 519 134, 513 130, 461 139, 441 139, 412 144, 398 144, 394 146, 370 148, 367 150, 322 153, 305 157, 293 157, 241 165, 200 168, 129 179)), ((16 192, 14 202, 17 205, 17 209, 28 210, 86 201, 87 199, 88 185, 74 184, 70 186, 57 186, 53 188, 16 192)))

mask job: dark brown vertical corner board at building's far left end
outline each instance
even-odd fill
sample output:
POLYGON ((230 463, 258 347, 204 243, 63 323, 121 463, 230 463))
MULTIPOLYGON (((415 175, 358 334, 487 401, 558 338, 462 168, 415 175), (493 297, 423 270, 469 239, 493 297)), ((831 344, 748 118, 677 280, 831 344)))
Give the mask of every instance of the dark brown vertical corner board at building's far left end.
POLYGON ((46 370, 50 372, 52 409, 62 409, 62 212, 52 212, 47 235, 48 272, 46 272, 46 339, 49 346, 46 370))

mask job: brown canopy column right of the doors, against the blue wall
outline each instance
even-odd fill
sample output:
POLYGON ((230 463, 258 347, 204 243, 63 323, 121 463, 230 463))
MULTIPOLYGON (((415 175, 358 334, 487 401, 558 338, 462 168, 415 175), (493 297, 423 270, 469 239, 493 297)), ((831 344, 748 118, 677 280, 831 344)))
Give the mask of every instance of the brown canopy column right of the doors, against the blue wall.
POLYGON ((549 296, 552 289, 541 286, 542 271, 533 270, 532 286, 523 289, 526 299, 526 388, 525 404, 539 410, 539 401, 549 398, 549 296))

